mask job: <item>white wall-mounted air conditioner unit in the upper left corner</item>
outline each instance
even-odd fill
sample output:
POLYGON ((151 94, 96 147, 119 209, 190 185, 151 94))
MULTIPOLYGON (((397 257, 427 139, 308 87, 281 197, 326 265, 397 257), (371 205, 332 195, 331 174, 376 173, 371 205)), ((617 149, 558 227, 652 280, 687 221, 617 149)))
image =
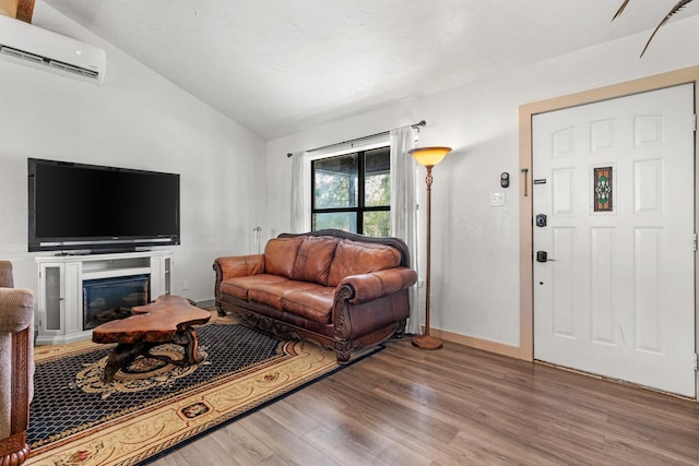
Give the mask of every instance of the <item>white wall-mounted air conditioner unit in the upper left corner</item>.
POLYGON ((0 14, 0 57, 102 84, 107 53, 95 46, 0 14))

